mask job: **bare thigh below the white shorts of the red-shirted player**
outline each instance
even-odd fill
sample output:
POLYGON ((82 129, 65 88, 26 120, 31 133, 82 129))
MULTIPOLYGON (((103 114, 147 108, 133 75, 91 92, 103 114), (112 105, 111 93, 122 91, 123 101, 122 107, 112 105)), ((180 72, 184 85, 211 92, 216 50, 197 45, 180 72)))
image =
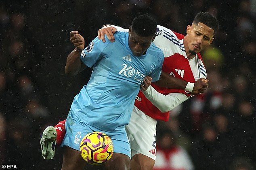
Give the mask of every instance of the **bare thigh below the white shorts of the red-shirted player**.
POLYGON ((136 154, 132 157, 131 170, 152 170, 155 160, 143 154, 136 154))

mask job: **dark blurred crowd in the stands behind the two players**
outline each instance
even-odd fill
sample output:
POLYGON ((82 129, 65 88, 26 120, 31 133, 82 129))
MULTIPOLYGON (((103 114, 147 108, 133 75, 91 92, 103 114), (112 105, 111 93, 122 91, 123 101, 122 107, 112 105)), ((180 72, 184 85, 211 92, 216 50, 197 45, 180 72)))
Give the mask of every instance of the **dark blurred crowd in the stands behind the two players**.
POLYGON ((185 35, 201 11, 220 23, 201 53, 209 88, 171 111, 168 122, 158 122, 162 162, 155 169, 180 170, 167 167, 180 164, 182 170, 255 170, 256 0, 1 0, 0 162, 24 170, 61 169, 63 150, 43 160, 40 136, 66 118, 92 71, 64 74, 74 48, 70 31, 89 44, 103 25, 128 28, 135 16, 149 13, 185 35))

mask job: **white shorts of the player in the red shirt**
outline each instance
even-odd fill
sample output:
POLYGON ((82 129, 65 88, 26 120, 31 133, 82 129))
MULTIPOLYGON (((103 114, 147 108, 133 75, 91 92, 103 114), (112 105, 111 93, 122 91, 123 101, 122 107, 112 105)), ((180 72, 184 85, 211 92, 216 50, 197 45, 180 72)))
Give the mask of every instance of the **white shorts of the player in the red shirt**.
POLYGON ((155 119, 145 115, 137 107, 133 107, 130 123, 126 125, 132 157, 136 154, 143 154, 155 160, 156 123, 155 119))

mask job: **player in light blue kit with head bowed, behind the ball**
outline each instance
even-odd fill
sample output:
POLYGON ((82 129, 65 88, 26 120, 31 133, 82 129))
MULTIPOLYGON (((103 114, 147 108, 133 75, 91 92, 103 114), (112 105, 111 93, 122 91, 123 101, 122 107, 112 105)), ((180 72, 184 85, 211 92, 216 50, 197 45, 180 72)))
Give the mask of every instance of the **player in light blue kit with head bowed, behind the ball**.
MULTIPOLYGON (((105 168, 129 170, 131 150, 125 125, 128 125, 136 95, 146 76, 157 81, 164 61, 163 52, 151 44, 157 25, 146 14, 132 21, 128 33, 115 33, 115 42, 97 37, 84 49, 77 31, 70 33, 76 48, 67 57, 65 72, 76 74, 84 63, 93 67, 91 78, 75 96, 66 119, 62 170, 82 170, 86 162, 80 156, 82 138, 92 131, 107 134, 114 154, 105 168), (82 62, 81 62, 82 61, 82 62)), ((145 81, 145 80, 144 80, 145 81)))

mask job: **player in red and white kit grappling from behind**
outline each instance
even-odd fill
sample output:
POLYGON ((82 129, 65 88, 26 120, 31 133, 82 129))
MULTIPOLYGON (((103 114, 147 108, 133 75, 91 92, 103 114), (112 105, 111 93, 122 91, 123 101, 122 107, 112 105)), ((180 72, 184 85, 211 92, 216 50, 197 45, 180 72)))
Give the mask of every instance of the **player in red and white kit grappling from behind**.
MULTIPOLYGON (((193 94, 204 92, 206 89, 204 86, 199 90, 197 86, 199 81, 208 82, 199 52, 212 43, 219 25, 218 20, 210 13, 199 12, 192 25, 187 26, 186 36, 162 26, 157 27, 157 36, 153 43, 162 49, 165 55, 160 77, 162 81, 159 81, 162 83, 154 82, 147 90, 139 92, 135 100, 130 123, 126 126, 132 149, 131 170, 152 170, 156 156, 156 120, 168 121, 170 110, 193 94), (176 84, 174 77, 187 82, 185 88, 176 84)), ((106 34, 110 41, 114 41, 115 31, 126 30, 109 25, 99 30, 98 37, 104 42, 106 34)), ((65 121, 60 123, 65 124, 65 121)), ((58 144, 65 135, 65 127, 59 124, 55 129, 58 144)))

